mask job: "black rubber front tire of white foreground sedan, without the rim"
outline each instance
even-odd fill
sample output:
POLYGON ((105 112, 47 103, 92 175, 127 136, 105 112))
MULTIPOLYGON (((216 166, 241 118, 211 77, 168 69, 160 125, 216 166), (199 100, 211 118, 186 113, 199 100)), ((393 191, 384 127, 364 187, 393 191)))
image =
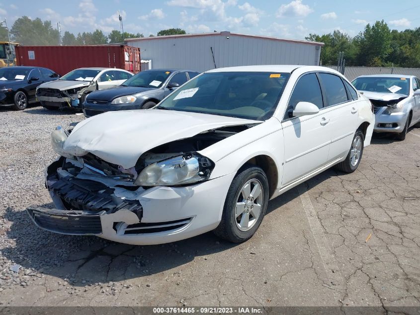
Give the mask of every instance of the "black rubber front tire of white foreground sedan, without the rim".
MULTIPOLYGON (((241 243, 244 242, 252 237, 255 231, 258 229, 261 221, 265 215, 265 211, 268 205, 268 180, 267 176, 265 175, 264 171, 259 167, 253 165, 247 165, 242 168, 238 174, 233 179, 231 186, 229 187, 228 194, 225 200, 225 206, 223 208, 222 220, 220 221, 219 226, 213 231, 217 236, 220 238, 226 239, 232 243, 241 243), (254 181, 254 185, 252 186, 252 182, 250 184, 250 191, 253 191, 255 188, 255 183, 261 184, 261 193, 252 201, 251 199, 247 202, 242 195, 242 188, 248 182, 254 181), (261 196, 261 197, 259 197, 261 196), (244 208, 251 207, 250 205, 258 205, 257 199, 259 200, 260 205, 260 212, 259 215, 255 215, 254 222, 250 225, 248 230, 241 230, 238 224, 241 221, 243 213, 239 216, 236 216, 236 207, 239 199, 243 199, 244 201, 244 208), (262 200, 262 201, 261 201, 262 200), (240 220, 238 222, 237 220, 240 220)), ((241 206, 242 207, 242 206, 241 206)), ((253 207, 253 206, 252 206, 253 207)), ((252 218, 252 207, 248 208, 248 217, 252 218)), ((244 210, 245 213, 246 210, 244 210)), ((251 222, 252 220, 250 220, 251 222)))

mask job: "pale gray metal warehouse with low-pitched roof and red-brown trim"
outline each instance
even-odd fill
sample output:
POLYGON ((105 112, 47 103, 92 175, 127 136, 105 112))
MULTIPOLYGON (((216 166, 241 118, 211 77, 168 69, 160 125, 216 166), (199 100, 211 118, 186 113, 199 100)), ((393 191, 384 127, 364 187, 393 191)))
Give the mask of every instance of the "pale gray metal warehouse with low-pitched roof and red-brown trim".
POLYGON ((151 68, 200 72, 246 65, 319 65, 324 45, 228 31, 130 38, 125 42, 139 47, 142 60, 151 60, 151 68))

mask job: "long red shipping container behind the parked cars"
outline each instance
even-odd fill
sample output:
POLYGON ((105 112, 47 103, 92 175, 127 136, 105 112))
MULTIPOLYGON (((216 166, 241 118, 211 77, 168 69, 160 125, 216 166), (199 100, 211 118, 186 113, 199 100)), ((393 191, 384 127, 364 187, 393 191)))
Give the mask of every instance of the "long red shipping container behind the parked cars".
POLYGON ((16 64, 49 68, 60 76, 84 67, 141 71, 140 48, 126 45, 16 46, 16 64))

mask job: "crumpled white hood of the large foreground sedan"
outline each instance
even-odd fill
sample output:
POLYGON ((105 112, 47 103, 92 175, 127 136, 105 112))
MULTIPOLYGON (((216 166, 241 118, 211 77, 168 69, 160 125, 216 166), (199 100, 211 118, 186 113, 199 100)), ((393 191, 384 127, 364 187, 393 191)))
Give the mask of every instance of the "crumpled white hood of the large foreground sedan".
POLYGON ((159 145, 210 129, 261 122, 163 109, 109 111, 78 123, 63 149, 76 156, 90 152, 128 169, 159 145))

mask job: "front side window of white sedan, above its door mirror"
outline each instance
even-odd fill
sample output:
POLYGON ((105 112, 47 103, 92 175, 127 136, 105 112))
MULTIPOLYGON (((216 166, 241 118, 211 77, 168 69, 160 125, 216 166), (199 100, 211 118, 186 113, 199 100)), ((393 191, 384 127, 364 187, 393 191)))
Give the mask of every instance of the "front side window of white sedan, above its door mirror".
POLYGON ((315 73, 300 77, 289 99, 284 119, 289 118, 288 111, 295 109, 299 102, 309 102, 322 108, 324 106, 320 83, 315 73))

